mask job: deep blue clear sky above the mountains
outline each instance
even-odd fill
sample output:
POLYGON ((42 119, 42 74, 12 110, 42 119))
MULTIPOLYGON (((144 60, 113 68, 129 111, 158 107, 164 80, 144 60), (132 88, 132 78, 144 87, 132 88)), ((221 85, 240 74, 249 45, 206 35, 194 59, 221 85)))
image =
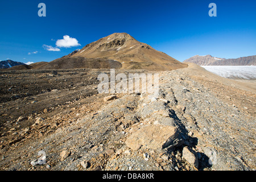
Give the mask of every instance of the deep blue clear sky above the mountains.
POLYGON ((179 61, 208 54, 251 56, 255 12, 255 0, 0 1, 0 60, 52 61, 114 32, 127 32, 179 61), (41 2, 46 17, 38 16, 41 2), (208 15, 212 2, 217 17, 208 15), (65 35, 73 47, 56 46, 65 35))

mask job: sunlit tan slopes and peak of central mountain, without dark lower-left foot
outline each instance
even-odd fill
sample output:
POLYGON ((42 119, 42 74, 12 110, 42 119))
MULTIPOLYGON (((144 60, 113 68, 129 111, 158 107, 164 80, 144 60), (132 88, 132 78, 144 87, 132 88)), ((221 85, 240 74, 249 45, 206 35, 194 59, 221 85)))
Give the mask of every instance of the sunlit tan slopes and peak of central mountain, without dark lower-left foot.
POLYGON ((105 36, 87 44, 79 51, 64 56, 67 59, 72 57, 114 60, 115 63, 121 64, 122 69, 162 71, 187 67, 187 64, 182 64, 165 53, 156 51, 125 32, 105 36))

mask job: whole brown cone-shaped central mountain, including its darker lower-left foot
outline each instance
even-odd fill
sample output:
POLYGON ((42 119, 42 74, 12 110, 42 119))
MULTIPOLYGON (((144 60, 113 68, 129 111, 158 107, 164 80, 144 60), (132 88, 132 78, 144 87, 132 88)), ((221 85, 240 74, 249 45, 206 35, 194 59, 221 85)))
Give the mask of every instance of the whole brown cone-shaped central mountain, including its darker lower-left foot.
POLYGON ((138 42, 129 34, 114 33, 39 69, 121 68, 166 71, 185 67, 187 64, 156 51, 148 44, 138 42))

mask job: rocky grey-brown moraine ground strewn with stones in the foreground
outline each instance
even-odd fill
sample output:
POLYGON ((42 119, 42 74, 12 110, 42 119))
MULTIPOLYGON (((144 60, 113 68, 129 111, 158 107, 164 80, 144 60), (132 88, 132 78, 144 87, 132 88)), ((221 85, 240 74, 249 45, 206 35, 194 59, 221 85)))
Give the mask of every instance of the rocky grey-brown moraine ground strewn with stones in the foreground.
POLYGON ((99 73, 1 71, 0 169, 256 169, 254 84, 189 64, 157 72, 158 97, 113 96, 98 93, 99 73))

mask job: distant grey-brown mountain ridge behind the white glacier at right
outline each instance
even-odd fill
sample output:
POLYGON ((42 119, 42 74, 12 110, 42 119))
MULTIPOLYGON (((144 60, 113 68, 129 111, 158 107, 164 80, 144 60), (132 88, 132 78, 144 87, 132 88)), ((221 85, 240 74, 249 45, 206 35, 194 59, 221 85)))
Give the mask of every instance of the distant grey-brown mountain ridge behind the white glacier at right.
POLYGON ((225 59, 219 57, 213 57, 211 55, 206 56, 193 56, 183 61, 184 63, 195 63, 197 65, 256 65, 256 55, 239 57, 237 59, 225 59))

